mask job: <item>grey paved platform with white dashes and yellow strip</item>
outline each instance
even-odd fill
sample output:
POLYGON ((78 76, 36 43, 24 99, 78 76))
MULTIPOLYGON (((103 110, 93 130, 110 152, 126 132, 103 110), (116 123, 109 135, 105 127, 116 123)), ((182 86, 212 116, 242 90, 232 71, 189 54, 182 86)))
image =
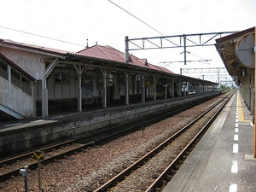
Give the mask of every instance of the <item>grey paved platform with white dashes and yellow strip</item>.
POLYGON ((252 122, 237 91, 163 191, 256 191, 252 122))

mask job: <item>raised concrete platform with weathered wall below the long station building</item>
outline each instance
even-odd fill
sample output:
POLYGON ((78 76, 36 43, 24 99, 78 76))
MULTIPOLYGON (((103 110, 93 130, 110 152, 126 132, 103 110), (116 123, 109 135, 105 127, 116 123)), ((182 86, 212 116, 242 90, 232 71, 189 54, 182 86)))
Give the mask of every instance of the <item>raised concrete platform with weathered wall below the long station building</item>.
POLYGON ((185 108, 220 95, 221 92, 214 91, 129 106, 113 103, 113 108, 99 109, 95 106, 81 113, 60 113, 46 119, 26 119, 8 125, 0 123, 0 156, 20 154, 84 134, 90 135, 102 128, 143 119, 148 115, 170 111, 177 106, 185 108))

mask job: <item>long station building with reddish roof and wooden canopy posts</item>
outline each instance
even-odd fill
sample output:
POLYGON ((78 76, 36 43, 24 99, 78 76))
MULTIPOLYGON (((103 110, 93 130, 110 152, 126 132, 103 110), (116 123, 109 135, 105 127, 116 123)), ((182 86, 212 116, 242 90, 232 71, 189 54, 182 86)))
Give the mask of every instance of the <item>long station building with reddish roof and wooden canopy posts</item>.
POLYGON ((0 119, 47 117, 57 109, 129 105, 217 90, 110 46, 77 53, 0 39, 0 119))

